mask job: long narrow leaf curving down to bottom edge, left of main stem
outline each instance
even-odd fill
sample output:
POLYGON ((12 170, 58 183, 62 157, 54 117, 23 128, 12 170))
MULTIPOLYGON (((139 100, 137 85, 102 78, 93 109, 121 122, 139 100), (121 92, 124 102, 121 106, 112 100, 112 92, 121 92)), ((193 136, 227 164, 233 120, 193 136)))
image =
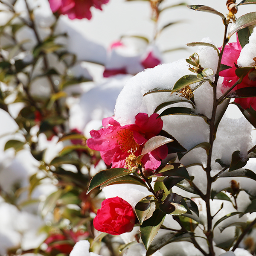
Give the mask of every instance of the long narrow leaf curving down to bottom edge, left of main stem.
POLYGON ((194 233, 165 233, 164 235, 158 237, 153 241, 153 243, 150 245, 150 247, 147 250, 146 256, 151 256, 153 253, 155 253, 157 250, 164 247, 166 244, 170 244, 172 242, 182 241, 186 240, 190 237, 193 237, 194 233))

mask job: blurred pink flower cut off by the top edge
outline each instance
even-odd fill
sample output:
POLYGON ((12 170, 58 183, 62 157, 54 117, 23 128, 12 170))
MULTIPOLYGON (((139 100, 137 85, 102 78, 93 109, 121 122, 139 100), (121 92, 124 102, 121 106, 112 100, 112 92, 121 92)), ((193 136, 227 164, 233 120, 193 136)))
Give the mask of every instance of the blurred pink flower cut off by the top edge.
POLYGON ((109 0, 49 0, 52 12, 58 14, 67 14, 68 17, 73 19, 87 18, 90 20, 92 14, 90 8, 94 6, 102 10, 101 5, 108 3, 109 0))

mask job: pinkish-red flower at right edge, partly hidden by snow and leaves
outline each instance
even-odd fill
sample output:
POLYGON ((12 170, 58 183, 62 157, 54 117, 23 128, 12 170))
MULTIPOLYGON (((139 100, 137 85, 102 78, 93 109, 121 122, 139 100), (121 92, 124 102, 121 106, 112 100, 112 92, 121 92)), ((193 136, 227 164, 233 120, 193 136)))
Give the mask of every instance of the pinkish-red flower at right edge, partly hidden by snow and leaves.
MULTIPOLYGON (((227 44, 224 49, 221 64, 230 66, 231 68, 220 72, 220 76, 224 77, 223 84, 225 87, 231 87, 239 78, 236 76, 236 64, 241 52, 241 45, 237 38, 235 43, 227 44)), ((245 87, 256 87, 256 70, 254 67, 247 73, 242 82, 238 84, 234 90, 245 88, 245 87)), ((256 110, 255 98, 238 98, 235 99, 236 103, 239 103, 242 108, 247 109, 252 106, 256 110)))

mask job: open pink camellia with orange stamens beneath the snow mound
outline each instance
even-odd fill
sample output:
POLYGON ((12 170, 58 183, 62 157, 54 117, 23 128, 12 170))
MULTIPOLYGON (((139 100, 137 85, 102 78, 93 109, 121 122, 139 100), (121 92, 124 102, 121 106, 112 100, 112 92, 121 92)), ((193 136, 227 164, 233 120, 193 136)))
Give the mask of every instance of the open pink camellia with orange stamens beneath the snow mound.
MULTIPOLYGON (((87 145, 93 150, 100 151, 107 165, 112 164, 112 168, 124 168, 125 159, 131 152, 139 156, 143 145, 162 130, 163 121, 157 118, 158 116, 157 113, 149 117, 146 113, 138 113, 135 124, 124 126, 111 117, 105 118, 102 120, 104 128, 90 131, 92 138, 87 140, 87 145)), ((167 145, 145 154, 142 158, 145 169, 151 171, 157 169, 167 154, 167 145)))

